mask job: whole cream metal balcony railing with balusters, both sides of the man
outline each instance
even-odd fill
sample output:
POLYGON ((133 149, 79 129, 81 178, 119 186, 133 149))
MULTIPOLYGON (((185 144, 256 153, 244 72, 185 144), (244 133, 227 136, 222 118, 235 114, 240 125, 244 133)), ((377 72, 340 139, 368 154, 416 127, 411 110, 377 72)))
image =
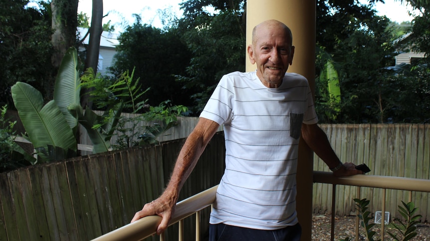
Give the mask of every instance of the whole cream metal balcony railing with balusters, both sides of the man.
MULTIPOLYGON (((387 189, 409 191, 409 201, 412 201, 412 192, 430 192, 430 180, 392 176, 375 175, 355 175, 349 177, 335 177, 331 172, 314 171, 313 179, 315 183, 328 183, 333 185, 332 194, 332 219, 331 219, 331 240, 334 240, 335 230, 335 203, 336 185, 357 186, 357 197, 360 197, 360 187, 382 188, 382 213, 385 213, 385 192, 387 189)), ((179 241, 183 240, 183 220, 191 215, 196 215, 196 241, 200 240, 200 210, 210 206, 215 200, 216 188, 212 187, 185 199, 177 204, 174 217, 170 225, 179 223, 179 241)), ((122 228, 107 233, 94 241, 139 241, 155 234, 161 218, 158 216, 145 217, 137 222, 128 224, 122 228)), ((356 240, 358 241, 359 222, 356 222, 356 240)), ((381 233, 384 234, 384 215, 381 220, 381 233)), ((384 241, 384 235, 381 235, 384 241)), ((160 235, 160 241, 164 241, 164 235, 160 235)))

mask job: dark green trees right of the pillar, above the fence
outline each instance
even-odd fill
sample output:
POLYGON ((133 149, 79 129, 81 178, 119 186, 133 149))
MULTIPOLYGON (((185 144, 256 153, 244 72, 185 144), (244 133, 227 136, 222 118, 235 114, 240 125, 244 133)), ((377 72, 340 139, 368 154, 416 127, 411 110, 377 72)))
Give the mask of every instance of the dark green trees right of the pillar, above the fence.
POLYGON ((331 106, 327 82, 316 78, 320 122, 428 122, 430 116, 423 110, 429 109, 430 96, 425 90, 428 87, 423 87, 429 86, 429 81, 411 72, 420 69, 423 75, 424 67, 392 68, 394 56, 402 50, 396 46, 398 32, 409 29, 395 28, 385 16, 376 15, 372 1, 361 5, 352 0, 318 0, 317 4, 316 73, 327 60, 333 61, 342 90, 339 105, 331 106))

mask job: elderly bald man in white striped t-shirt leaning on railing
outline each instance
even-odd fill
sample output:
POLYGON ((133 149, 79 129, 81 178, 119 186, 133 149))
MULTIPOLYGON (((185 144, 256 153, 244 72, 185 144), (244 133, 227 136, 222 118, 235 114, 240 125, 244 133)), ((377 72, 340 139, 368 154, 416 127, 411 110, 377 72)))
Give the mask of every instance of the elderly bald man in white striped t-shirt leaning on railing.
POLYGON ((256 71, 222 77, 190 134, 163 194, 137 212, 168 226, 178 195, 206 145, 224 124, 225 171, 210 218, 210 240, 298 241, 297 155, 300 135, 338 176, 363 173, 342 163, 318 118, 308 81, 286 73, 294 46, 290 29, 276 20, 255 26, 247 52, 256 71))

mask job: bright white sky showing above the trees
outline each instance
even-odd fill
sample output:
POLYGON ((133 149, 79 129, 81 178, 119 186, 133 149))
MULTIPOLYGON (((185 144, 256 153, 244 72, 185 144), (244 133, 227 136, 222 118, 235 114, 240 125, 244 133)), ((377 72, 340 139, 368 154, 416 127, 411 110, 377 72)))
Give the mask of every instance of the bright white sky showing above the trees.
MULTIPOLYGON (((111 20, 111 25, 115 26, 115 32, 122 32, 122 30, 132 25, 135 21, 133 13, 137 13, 142 18, 142 23, 151 24, 154 27, 162 28, 163 24, 159 17, 158 10, 167 9, 175 13, 177 17, 181 17, 182 10, 180 10, 179 3, 183 0, 103 0, 103 15, 109 13, 103 19, 103 23, 111 20), (123 24, 122 24, 123 23, 123 24), (125 25, 124 25, 125 23, 125 25)), ((360 0, 366 2, 367 0, 360 0)), ((87 13, 91 16, 92 0, 79 0, 78 12, 87 13)), ((408 10, 411 7, 400 0, 385 0, 384 3, 378 2, 375 9, 378 10, 378 15, 386 15, 392 21, 401 23, 403 21, 411 21, 413 17, 409 16, 408 10)))

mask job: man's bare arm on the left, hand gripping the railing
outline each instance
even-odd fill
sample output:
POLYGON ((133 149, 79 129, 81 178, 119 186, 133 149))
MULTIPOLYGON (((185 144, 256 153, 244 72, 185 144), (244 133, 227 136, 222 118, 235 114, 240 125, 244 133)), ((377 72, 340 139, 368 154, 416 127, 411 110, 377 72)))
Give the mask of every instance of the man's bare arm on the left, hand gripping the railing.
POLYGON ((134 215, 132 223, 146 216, 158 215, 162 220, 157 228, 157 234, 161 234, 167 229, 169 221, 175 212, 179 192, 196 166, 209 141, 218 130, 218 127, 219 125, 215 121, 203 117, 200 118, 197 126, 188 136, 179 153, 178 160, 175 163, 175 168, 165 191, 156 200, 145 204, 143 209, 134 215))

